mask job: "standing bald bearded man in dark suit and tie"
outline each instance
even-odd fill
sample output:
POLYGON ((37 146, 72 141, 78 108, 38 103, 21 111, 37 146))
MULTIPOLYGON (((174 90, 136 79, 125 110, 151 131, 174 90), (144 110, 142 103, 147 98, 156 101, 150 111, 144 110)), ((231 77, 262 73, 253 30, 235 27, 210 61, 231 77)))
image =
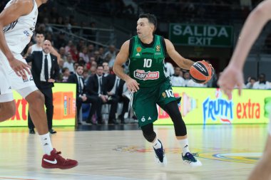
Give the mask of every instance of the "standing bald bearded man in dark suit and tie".
MULTIPOLYGON (((48 129, 51 134, 56 133, 53 127, 53 83, 59 73, 57 58, 51 54, 51 42, 46 40, 42 45, 42 51, 34 51, 26 57, 27 63, 32 63, 31 73, 36 87, 44 94, 48 129)), ((34 124, 29 115, 29 133, 35 134, 34 124)))

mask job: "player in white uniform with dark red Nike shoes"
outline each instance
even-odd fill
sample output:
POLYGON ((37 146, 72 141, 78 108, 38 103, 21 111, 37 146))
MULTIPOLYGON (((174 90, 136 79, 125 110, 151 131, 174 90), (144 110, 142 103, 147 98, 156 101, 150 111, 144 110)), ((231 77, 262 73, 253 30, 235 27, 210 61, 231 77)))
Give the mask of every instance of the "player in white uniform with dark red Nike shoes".
POLYGON ((11 0, 0 14, 0 122, 15 114, 11 89, 29 102, 29 112, 41 138, 44 168, 68 169, 78 162, 63 159, 51 145, 44 110, 44 95, 31 78, 29 65, 21 52, 31 40, 38 16, 38 7, 47 0, 11 0))

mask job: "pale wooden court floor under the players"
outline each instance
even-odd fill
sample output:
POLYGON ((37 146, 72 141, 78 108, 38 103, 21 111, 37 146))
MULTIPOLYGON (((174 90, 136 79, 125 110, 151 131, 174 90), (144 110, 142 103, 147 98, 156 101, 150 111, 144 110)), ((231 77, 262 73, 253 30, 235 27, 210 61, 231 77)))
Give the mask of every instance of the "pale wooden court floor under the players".
POLYGON ((168 166, 154 163, 151 144, 137 125, 55 128, 53 146, 77 159, 74 169, 42 169, 39 137, 27 128, 0 128, 0 179, 246 179, 261 156, 266 125, 188 125, 189 146, 203 166, 183 165, 171 126, 155 126, 168 166), (122 127, 120 127, 122 126, 122 127))

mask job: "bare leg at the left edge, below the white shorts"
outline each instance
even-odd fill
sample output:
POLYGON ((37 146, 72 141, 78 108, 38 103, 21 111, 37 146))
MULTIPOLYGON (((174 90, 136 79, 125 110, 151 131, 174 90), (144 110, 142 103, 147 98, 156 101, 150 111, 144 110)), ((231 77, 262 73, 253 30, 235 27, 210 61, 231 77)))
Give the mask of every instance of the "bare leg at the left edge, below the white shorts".
POLYGON ((16 112, 15 102, 0 102, 0 122, 5 120, 9 120, 9 118, 13 117, 16 112))

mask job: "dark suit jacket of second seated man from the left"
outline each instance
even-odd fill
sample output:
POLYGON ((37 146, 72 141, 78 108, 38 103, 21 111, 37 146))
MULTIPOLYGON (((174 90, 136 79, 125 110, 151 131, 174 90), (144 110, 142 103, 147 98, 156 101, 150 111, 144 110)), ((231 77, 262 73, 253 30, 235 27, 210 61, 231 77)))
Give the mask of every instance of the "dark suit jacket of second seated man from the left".
MULTIPOLYGON (((107 95, 107 83, 108 79, 103 76, 102 78, 102 87, 101 87, 101 94, 107 95)), ((88 82, 86 83, 86 91, 89 95, 98 95, 98 77, 97 75, 93 75, 88 78, 88 82)))

